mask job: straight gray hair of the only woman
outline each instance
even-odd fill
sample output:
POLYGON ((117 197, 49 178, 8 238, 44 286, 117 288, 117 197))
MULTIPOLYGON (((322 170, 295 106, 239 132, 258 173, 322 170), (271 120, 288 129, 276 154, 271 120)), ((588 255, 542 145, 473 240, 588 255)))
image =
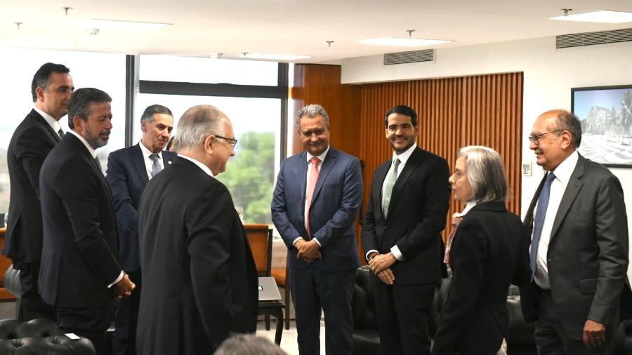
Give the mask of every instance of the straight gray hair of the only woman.
POLYGON ((509 183, 498 152, 482 145, 470 145, 461 148, 457 158, 461 156, 466 157, 466 171, 472 187, 470 201, 507 201, 509 183))

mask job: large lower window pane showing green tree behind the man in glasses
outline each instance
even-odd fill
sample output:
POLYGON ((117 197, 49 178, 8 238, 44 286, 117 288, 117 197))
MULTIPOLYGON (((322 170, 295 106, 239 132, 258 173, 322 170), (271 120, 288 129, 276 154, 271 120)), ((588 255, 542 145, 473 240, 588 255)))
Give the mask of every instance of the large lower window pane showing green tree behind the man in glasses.
MULTIPOLYGON (((140 116, 145 107, 160 104, 173 112, 174 126, 195 105, 213 105, 228 116, 238 140, 235 156, 218 180, 228 187, 235 206, 244 208, 247 223, 272 223, 270 201, 280 152, 281 100, 188 95, 139 94, 136 99, 134 144, 140 141, 140 116)), ((174 128, 173 134, 178 135, 174 128)))

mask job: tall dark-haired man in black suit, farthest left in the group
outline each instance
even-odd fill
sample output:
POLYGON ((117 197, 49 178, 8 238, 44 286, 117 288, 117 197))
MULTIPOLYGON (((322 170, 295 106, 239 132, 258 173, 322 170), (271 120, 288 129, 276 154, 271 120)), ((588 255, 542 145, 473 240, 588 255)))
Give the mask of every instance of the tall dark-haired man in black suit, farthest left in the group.
POLYGON ((59 120, 67 114, 74 90, 69 72, 64 65, 53 63, 37 70, 31 83, 34 108, 15 129, 8 146, 11 201, 3 254, 20 270, 20 321, 55 320, 55 309, 41 300, 37 290, 42 235, 39 172, 63 135, 59 120))

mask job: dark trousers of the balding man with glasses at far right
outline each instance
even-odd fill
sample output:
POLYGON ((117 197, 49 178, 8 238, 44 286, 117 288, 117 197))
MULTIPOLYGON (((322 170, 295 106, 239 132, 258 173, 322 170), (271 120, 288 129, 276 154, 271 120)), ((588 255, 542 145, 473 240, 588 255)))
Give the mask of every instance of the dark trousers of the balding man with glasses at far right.
POLYGON ((584 340, 573 339, 568 335, 555 312, 551 290, 540 289, 539 293, 538 321, 535 330, 538 355, 609 355, 611 353, 612 337, 619 322, 614 323, 617 326, 606 326, 606 341, 600 347, 587 348, 584 340))

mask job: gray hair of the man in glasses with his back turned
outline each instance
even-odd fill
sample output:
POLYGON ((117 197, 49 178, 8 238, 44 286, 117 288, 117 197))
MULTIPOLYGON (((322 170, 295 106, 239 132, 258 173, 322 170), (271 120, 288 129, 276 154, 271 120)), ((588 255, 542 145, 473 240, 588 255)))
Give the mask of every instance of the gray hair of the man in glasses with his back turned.
POLYGON ((217 107, 198 105, 187 109, 178 121, 178 135, 173 140, 176 152, 202 145, 209 135, 223 135, 226 115, 217 107))

